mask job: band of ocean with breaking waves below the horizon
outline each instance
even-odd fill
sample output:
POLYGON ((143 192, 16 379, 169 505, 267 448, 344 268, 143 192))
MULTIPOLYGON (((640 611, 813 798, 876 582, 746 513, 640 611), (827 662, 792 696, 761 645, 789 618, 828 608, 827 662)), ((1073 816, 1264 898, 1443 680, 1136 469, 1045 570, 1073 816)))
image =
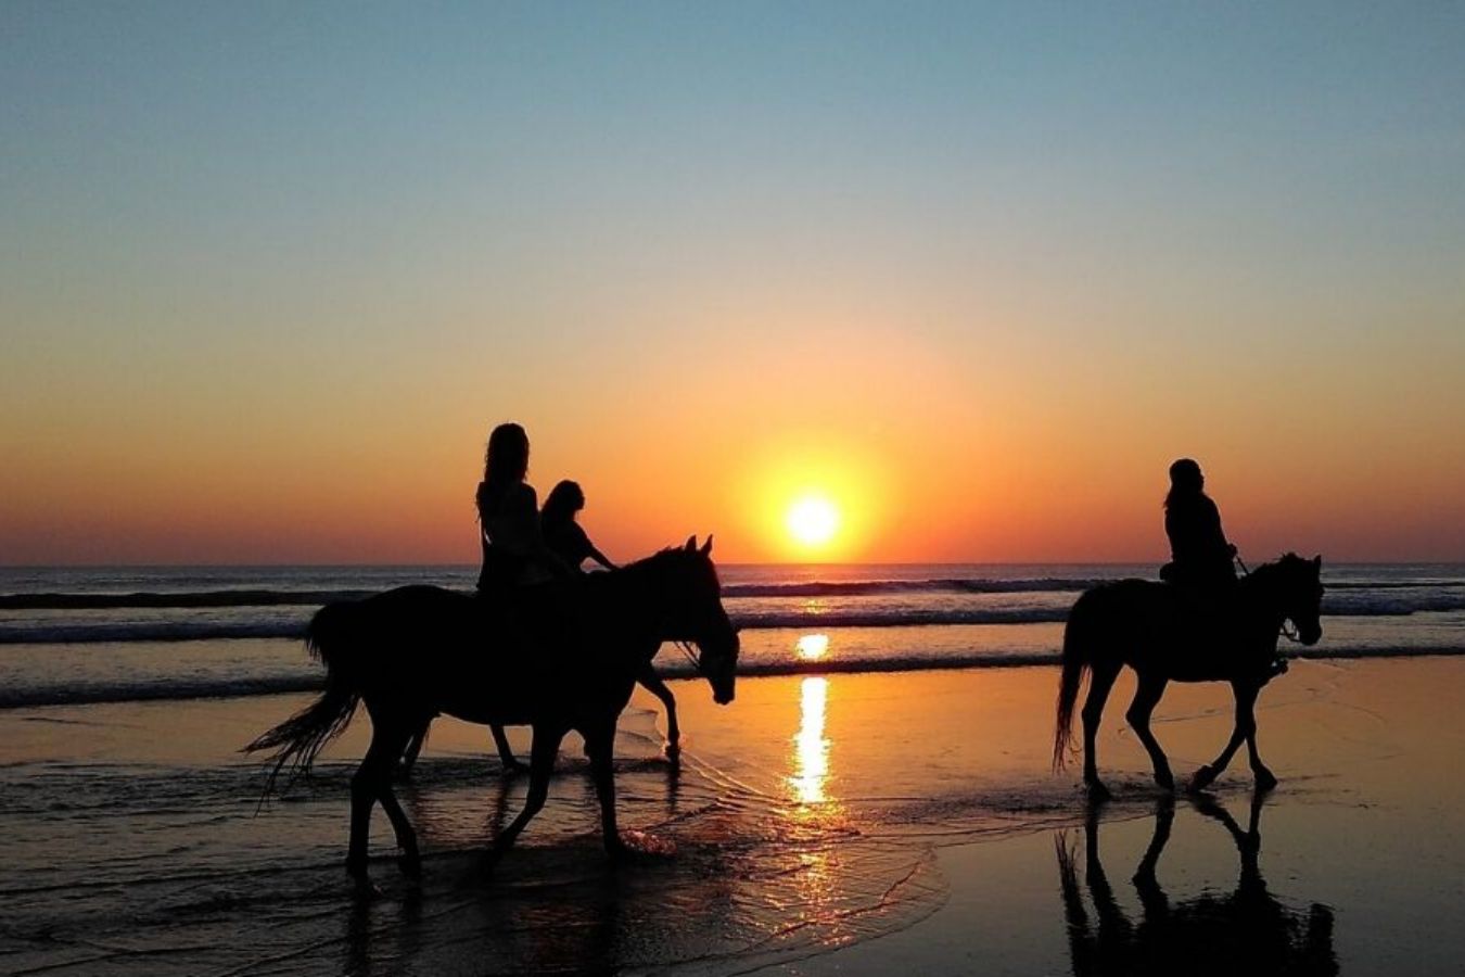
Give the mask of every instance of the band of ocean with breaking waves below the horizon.
MULTIPOLYGON (((725 565, 741 672, 778 675, 1045 665, 1100 580, 1153 565, 725 565)), ((256 696, 316 688, 299 639, 330 601, 431 583, 470 590, 476 567, 0 568, 0 707, 256 696)), ((1311 658, 1465 653, 1465 564, 1324 567, 1311 658)), ((686 677, 664 649, 659 668, 686 677)))

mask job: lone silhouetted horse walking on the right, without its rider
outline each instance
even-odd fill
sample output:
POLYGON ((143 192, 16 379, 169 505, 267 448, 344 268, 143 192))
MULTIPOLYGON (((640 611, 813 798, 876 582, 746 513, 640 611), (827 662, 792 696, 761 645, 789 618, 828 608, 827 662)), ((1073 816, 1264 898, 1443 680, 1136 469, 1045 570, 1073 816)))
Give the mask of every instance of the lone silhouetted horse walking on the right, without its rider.
POLYGON ((1169 760, 1150 732, 1150 713, 1173 680, 1226 681, 1236 700, 1235 728, 1226 748, 1195 772, 1190 790, 1209 787, 1242 743, 1257 788, 1276 787, 1276 776, 1257 754, 1256 702, 1275 674, 1277 639, 1286 621, 1294 624, 1302 644, 1316 644, 1323 636, 1318 620, 1321 568, 1321 557, 1304 560, 1286 554, 1257 567, 1238 580, 1231 593, 1216 599, 1150 580, 1116 580, 1081 593, 1064 627, 1053 770, 1061 770, 1067 760, 1074 703, 1084 672, 1088 672, 1088 699, 1083 709, 1084 784, 1093 797, 1109 795, 1099 779, 1094 737, 1109 688, 1119 669, 1128 665, 1138 677, 1138 690, 1125 718, 1150 754, 1156 784, 1166 790, 1175 787, 1169 760))

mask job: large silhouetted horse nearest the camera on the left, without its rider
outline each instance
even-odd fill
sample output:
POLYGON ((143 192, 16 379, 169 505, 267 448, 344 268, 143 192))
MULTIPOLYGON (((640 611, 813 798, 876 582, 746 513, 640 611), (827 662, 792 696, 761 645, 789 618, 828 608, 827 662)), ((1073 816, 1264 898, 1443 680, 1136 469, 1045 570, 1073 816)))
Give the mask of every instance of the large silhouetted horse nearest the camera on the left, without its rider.
POLYGON ((495 605, 440 587, 400 587, 331 603, 312 618, 306 644, 325 662, 321 697, 245 747, 274 751, 268 790, 284 768, 309 770, 350 722, 357 703, 372 741, 352 778, 346 867, 366 883, 372 804, 381 801, 409 874, 420 870, 418 839, 391 790, 407 740, 448 713, 469 722, 533 727, 529 795, 495 839, 502 854, 544 807, 560 741, 585 737, 601 803, 605 848, 624 851, 615 828, 611 747, 615 724, 642 668, 662 642, 694 643, 712 697, 732 702, 738 637, 722 608, 712 539, 664 549, 583 582, 527 587, 516 605, 495 605))

